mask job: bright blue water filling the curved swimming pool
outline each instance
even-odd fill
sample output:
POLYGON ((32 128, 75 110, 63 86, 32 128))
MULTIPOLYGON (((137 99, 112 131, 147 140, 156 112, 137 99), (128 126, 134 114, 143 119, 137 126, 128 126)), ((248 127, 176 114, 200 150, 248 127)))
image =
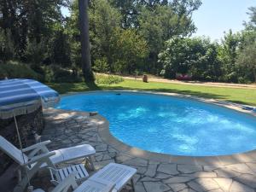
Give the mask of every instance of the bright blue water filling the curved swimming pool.
POLYGON ((256 118, 205 102, 122 92, 62 96, 57 108, 98 111, 114 137, 163 154, 207 156, 256 148, 256 118))

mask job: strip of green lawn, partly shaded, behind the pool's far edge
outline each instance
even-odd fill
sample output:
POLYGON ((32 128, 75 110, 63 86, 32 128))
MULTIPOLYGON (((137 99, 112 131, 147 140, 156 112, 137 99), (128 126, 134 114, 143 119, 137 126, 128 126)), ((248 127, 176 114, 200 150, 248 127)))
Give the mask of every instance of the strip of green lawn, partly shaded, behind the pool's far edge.
POLYGON ((84 84, 84 83, 63 83, 49 84, 50 87, 64 94, 68 92, 80 92, 86 90, 153 90, 161 92, 172 92, 188 94, 191 96, 201 96, 237 102, 241 104, 256 106, 256 89, 237 89, 224 87, 200 86, 191 84, 170 84, 170 83, 143 83, 138 80, 127 80, 119 84, 84 84))

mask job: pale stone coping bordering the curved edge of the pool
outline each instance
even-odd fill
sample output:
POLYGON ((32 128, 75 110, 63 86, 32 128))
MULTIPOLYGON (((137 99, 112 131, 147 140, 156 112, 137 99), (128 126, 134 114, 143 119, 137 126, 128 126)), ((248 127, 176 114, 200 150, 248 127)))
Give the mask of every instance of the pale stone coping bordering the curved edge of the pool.
MULTIPOLYGON (((198 96, 189 96, 182 95, 177 93, 165 93, 165 92, 154 92, 154 91, 141 91, 141 90, 95 90, 95 91, 85 91, 79 92, 77 94, 83 93, 92 93, 92 92, 136 92, 136 93, 150 93, 156 95, 164 95, 164 96, 178 96, 182 98, 195 99, 201 102, 208 102, 212 104, 216 104, 218 106, 224 108, 234 109, 241 113, 247 113, 256 117, 256 113, 248 112, 247 110, 243 110, 236 103, 231 102, 220 102, 214 99, 206 99, 198 96)), ((74 95, 75 93, 65 94, 63 96, 74 95)), ((240 105, 242 106, 242 105, 240 105)), ((147 150, 143 150, 140 148, 131 147, 125 143, 122 143, 117 138, 113 137, 113 135, 109 131, 109 122, 108 119, 104 118, 102 115, 96 115, 97 119, 102 119, 104 123, 99 126, 98 132, 100 137, 105 143, 108 143, 113 148, 116 148, 120 152, 124 154, 128 154, 131 156, 135 156, 138 158, 143 158, 146 160, 159 161, 162 163, 178 163, 183 165, 197 165, 197 166, 225 166, 236 163, 246 163, 251 161, 256 161, 256 149, 240 153, 240 154, 230 154, 230 155, 218 155, 218 156, 182 156, 182 155, 172 155, 172 154, 160 154, 155 152, 150 152, 147 150)))

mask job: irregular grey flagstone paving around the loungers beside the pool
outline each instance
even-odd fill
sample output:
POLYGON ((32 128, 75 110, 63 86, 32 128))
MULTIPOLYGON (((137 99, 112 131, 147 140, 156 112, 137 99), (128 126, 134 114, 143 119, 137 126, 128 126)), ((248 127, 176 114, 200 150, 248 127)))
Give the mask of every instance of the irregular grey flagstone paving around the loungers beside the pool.
MULTIPOLYGON (((44 117, 46 126, 42 139, 52 141, 49 148, 92 145, 96 148, 93 158, 96 169, 110 162, 137 168, 136 192, 256 192, 256 160, 227 166, 162 163, 132 156, 104 143, 99 134, 104 124, 100 115, 90 117, 88 113, 51 109, 44 117)), ((48 174, 39 174, 33 183, 43 189, 51 186, 48 174)), ((128 185, 122 192, 129 190, 128 185)))

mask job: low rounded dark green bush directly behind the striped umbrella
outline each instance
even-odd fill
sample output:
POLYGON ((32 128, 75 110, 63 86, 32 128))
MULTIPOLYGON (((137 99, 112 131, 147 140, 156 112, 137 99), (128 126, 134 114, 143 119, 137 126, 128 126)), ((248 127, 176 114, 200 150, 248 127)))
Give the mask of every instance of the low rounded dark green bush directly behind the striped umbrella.
POLYGON ((0 64, 0 79, 5 79, 5 77, 9 79, 43 79, 43 77, 32 70, 29 65, 17 61, 8 61, 0 64))

